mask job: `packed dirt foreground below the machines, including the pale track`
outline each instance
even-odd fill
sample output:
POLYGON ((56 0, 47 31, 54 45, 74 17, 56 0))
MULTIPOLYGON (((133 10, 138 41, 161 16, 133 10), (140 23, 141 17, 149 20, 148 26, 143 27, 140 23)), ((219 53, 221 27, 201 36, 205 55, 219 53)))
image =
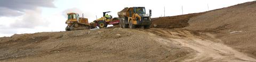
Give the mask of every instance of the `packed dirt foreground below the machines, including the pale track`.
POLYGON ((256 61, 184 29, 108 28, 0 39, 0 61, 256 61))

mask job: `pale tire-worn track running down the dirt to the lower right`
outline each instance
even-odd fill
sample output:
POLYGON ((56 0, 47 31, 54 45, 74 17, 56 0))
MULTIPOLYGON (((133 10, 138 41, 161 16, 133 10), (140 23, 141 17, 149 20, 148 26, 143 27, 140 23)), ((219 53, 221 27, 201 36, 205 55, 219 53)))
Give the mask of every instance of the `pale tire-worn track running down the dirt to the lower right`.
POLYGON ((256 59, 240 53, 225 44, 215 43, 212 40, 195 36, 187 30, 151 28, 142 31, 167 37, 171 41, 192 48, 198 52, 193 58, 187 58, 183 61, 256 61, 256 59))

